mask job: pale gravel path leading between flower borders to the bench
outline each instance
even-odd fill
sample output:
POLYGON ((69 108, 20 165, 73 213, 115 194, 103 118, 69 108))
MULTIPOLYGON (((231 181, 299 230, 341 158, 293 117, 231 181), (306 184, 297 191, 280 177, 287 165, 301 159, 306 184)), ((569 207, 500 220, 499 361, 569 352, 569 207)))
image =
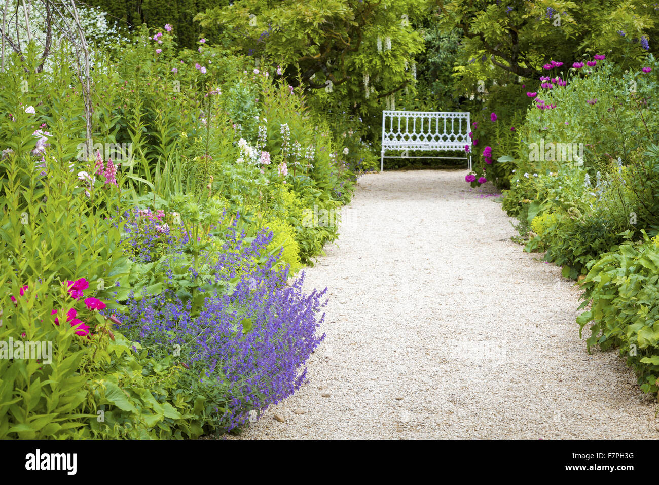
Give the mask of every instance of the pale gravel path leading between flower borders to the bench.
POLYGON ((579 340, 579 290, 466 174, 359 179, 306 271, 329 288, 308 383, 239 438, 659 437, 617 352, 579 340))

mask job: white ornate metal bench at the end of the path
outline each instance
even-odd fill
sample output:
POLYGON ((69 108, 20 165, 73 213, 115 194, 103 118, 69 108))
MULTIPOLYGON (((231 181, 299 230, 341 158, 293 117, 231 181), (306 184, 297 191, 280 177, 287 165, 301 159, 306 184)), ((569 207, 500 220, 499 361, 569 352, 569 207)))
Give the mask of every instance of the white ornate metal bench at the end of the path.
POLYGON ((471 170, 471 123, 469 112, 383 111, 382 158, 446 158, 468 160, 471 170), (462 151, 469 145, 466 156, 408 156, 409 150, 462 151), (403 156, 385 156, 386 150, 403 150, 403 156))

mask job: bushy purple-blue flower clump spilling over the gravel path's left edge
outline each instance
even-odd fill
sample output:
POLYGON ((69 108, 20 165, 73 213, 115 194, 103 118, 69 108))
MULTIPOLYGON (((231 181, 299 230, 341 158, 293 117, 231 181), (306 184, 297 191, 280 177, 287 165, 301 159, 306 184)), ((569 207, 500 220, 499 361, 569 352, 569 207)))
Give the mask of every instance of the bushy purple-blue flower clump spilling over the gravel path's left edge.
POLYGON ((244 239, 230 226, 207 272, 214 288, 225 290, 207 292, 196 313, 174 290, 127 303, 126 335, 154 356, 181 346, 181 362, 190 368, 182 380, 215 400, 208 403, 216 409, 210 419, 220 430, 244 424, 250 411, 299 389, 306 377, 302 366, 325 337, 316 330, 324 321, 318 313, 327 288, 306 294, 303 273, 288 286, 288 271, 275 271, 274 257, 256 262, 272 237, 263 230, 244 239))

